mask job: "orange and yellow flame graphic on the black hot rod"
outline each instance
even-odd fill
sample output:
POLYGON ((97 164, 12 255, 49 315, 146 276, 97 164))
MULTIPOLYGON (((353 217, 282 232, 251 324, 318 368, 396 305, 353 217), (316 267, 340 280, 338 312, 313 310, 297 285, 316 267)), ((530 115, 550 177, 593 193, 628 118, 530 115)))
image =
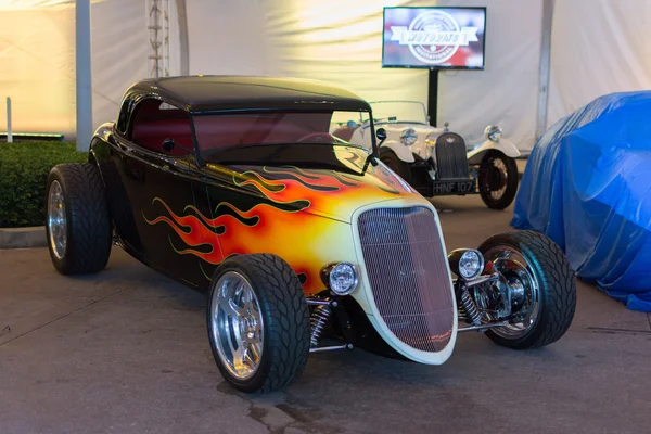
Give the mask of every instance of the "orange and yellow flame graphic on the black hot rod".
MULTIPOLYGON (((347 164, 359 167, 355 154, 345 156, 347 164)), ((308 294, 323 290, 319 277, 323 266, 342 260, 344 254, 349 257, 354 250, 348 245, 349 226, 342 221, 349 221, 359 206, 412 193, 383 166, 369 166, 363 179, 334 170, 290 166, 243 168, 232 181, 238 187, 254 187, 264 199, 247 210, 219 203, 210 218, 193 205, 178 215, 163 199, 155 197, 152 205, 164 209, 153 219, 144 213, 143 217, 150 225, 166 224, 176 232, 184 244, 175 246, 170 238, 176 253, 193 255, 212 265, 235 254, 276 254, 304 278, 308 294), (344 252, 345 246, 348 247, 344 252)), ((205 271, 204 276, 210 279, 205 271)))

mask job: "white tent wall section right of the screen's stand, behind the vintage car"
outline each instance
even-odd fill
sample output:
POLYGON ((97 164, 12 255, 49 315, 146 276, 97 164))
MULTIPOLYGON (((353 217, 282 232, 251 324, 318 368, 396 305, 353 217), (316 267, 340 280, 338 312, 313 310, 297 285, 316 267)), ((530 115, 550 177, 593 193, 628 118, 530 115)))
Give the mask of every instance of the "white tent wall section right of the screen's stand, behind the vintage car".
POLYGON ((486 7, 484 71, 441 72, 438 122, 470 142, 499 125, 524 152, 533 149, 538 111, 541 0, 439 0, 438 5, 486 7))

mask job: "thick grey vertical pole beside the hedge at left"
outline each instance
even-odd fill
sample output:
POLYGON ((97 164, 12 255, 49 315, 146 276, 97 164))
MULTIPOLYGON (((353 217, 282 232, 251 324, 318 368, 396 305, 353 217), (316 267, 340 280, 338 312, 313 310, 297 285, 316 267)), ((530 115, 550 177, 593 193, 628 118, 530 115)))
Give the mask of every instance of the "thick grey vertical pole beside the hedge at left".
POLYGON ((92 78, 90 69, 90 0, 76 0, 75 65, 77 76, 77 151, 88 151, 92 137, 92 78))

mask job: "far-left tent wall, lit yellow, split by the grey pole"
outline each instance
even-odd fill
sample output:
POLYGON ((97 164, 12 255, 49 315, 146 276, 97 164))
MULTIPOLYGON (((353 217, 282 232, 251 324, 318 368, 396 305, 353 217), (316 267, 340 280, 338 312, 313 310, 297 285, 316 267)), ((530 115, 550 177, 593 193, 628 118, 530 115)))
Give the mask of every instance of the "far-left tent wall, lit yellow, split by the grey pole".
MULTIPOLYGON (((126 87, 146 76, 148 40, 144 1, 92 2, 93 127, 114 119, 126 87)), ((0 89, 14 131, 75 138, 74 1, 0 0, 0 89)))

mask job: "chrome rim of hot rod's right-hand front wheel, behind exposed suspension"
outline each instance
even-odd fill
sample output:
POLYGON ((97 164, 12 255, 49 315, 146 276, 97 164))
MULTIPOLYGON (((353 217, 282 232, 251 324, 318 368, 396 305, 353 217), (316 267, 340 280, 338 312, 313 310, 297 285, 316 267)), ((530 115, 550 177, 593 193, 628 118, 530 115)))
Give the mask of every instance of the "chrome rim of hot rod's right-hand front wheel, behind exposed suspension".
MULTIPOLYGON (((536 324, 540 309, 540 283, 526 257, 514 247, 498 245, 489 248, 484 254, 486 264, 493 264, 493 270, 498 271, 508 282, 522 284, 524 288, 524 302, 521 309, 515 312, 514 319, 508 326, 492 329, 495 334, 516 340, 526 335, 536 324)), ((489 318, 489 321, 495 321, 489 318)))

